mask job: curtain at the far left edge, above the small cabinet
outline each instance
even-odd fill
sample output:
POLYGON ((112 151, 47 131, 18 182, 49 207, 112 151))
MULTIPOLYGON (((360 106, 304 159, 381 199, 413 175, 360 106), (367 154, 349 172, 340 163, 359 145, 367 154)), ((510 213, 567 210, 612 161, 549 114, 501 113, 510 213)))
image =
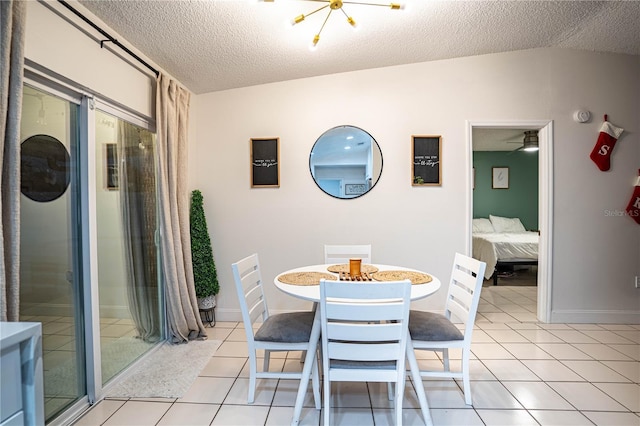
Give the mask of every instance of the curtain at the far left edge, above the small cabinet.
POLYGON ((0 320, 18 321, 20 307, 20 116, 27 4, 0 1, 0 320))

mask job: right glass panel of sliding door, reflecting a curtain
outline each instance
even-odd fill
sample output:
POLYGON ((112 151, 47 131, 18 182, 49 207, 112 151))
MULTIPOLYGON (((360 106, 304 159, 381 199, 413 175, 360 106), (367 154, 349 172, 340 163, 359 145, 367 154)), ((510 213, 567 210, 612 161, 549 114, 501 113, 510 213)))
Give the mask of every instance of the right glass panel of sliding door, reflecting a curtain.
POLYGON ((97 110, 96 213, 102 384, 160 340, 155 138, 97 110))

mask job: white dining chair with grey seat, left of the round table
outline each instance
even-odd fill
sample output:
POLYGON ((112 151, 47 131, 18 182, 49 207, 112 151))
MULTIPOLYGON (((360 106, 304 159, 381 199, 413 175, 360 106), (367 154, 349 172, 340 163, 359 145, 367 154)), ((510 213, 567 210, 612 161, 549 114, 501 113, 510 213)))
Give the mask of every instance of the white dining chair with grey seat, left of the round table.
MULTIPOLYGON (((249 395, 247 402, 255 398, 256 379, 302 379, 302 372, 269 371, 271 352, 305 351, 309 346, 313 312, 288 312, 270 315, 257 254, 252 254, 231 265, 236 282, 242 321, 249 348, 249 395), (264 350, 262 371, 258 371, 258 351, 264 350)), ((318 366, 314 362, 312 387, 316 409, 320 409, 320 382, 318 366)))

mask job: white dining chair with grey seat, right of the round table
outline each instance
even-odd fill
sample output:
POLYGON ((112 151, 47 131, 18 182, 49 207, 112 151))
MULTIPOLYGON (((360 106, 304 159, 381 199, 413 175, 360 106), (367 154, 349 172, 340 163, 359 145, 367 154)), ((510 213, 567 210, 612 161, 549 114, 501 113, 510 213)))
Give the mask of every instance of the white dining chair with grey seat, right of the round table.
MULTIPOLYGON (((462 379, 467 405, 472 404, 469 380, 471 335, 486 267, 484 262, 456 253, 444 315, 415 310, 409 313, 409 334, 414 351, 429 350, 442 353, 442 369, 423 369, 420 370, 420 376, 462 379), (460 322, 454 322, 456 320, 460 322), (461 328, 456 324, 461 324, 461 328), (452 348, 462 350, 460 371, 451 371, 449 349, 452 348)), ((415 356, 409 357, 409 364, 414 363, 416 363, 415 356)), ((411 366, 418 369, 417 365, 411 366)), ((416 386, 420 384, 416 383, 416 386)))

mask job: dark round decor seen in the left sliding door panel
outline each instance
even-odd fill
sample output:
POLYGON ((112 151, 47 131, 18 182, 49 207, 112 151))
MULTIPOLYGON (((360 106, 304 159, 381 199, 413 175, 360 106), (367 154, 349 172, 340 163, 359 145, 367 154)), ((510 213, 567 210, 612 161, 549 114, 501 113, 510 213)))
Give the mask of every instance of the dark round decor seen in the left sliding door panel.
POLYGON ((69 186, 69 153, 52 136, 25 139, 20 147, 20 168, 20 191, 33 201, 53 201, 69 186))

